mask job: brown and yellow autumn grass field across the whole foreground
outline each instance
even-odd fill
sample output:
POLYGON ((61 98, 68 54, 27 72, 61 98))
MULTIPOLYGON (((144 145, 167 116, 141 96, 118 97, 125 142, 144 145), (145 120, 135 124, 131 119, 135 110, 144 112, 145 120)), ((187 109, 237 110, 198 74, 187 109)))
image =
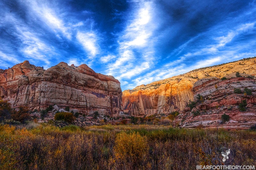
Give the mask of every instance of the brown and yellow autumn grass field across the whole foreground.
POLYGON ((256 131, 154 125, 0 125, 0 169, 196 169, 256 165, 256 131), (218 132, 218 133, 217 133, 218 132), (220 148, 233 151, 222 163, 220 148))

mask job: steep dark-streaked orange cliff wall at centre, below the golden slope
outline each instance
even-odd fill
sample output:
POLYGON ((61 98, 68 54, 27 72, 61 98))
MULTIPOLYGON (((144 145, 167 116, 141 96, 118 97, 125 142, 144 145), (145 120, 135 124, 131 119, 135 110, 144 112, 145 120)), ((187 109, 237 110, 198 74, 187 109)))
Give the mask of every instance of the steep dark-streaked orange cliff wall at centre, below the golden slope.
POLYGON ((156 86, 140 86, 144 90, 125 90, 123 104, 130 115, 144 116, 183 110, 187 101, 193 99, 192 78, 170 79, 156 86), (152 88, 152 89, 151 89, 152 88), (156 89, 155 89, 156 88, 156 89))

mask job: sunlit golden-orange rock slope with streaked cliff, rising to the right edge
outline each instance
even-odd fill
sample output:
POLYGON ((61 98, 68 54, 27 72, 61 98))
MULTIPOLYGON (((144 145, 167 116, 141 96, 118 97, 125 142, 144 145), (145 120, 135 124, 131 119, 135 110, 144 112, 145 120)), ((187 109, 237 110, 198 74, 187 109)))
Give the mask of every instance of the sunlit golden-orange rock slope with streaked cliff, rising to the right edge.
POLYGON ((236 72, 240 72, 241 75, 256 75, 256 58, 200 68, 165 80, 140 85, 132 90, 124 90, 124 112, 136 116, 182 112, 188 101, 194 98, 192 89, 196 81, 209 77, 228 78, 236 72))

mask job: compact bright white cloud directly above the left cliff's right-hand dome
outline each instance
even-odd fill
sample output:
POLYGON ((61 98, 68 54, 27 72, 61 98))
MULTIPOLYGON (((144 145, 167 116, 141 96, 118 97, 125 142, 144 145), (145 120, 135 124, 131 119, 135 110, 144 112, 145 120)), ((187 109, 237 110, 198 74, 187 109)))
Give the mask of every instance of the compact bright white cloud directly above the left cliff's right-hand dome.
POLYGON ((93 58, 96 54, 99 54, 99 48, 96 43, 97 37, 93 32, 77 32, 76 39, 82 44, 84 50, 90 53, 89 58, 93 58))

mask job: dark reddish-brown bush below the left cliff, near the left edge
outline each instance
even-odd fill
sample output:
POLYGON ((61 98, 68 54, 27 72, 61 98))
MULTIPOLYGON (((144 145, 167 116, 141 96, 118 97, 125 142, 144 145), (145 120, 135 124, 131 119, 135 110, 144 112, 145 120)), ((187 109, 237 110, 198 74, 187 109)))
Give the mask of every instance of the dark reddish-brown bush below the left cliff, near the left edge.
POLYGON ((11 117, 13 120, 24 123, 27 120, 31 120, 31 116, 28 112, 29 110, 27 107, 20 106, 18 111, 12 113, 11 117))

